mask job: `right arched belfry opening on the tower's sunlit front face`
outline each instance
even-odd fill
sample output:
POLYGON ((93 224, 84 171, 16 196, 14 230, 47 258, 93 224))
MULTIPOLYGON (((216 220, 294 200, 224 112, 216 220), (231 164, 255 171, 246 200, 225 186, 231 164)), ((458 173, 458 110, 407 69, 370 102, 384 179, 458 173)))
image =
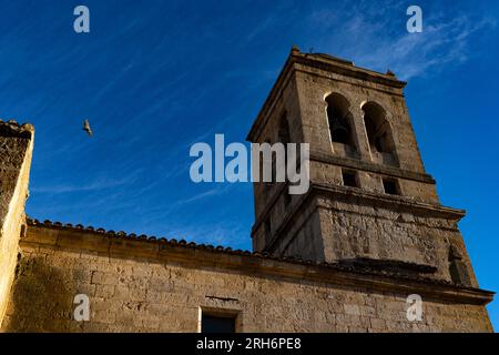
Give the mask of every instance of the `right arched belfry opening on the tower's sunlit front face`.
POLYGON ((384 164, 396 165, 394 135, 385 110, 376 102, 368 102, 363 105, 363 111, 373 159, 384 164))

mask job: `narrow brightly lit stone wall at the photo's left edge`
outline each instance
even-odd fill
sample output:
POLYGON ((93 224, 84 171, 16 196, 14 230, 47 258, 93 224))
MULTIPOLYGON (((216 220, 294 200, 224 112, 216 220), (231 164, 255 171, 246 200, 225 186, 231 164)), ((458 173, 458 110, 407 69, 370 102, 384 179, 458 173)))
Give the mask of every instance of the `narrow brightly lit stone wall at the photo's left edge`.
POLYGON ((33 129, 0 120, 0 326, 18 260, 19 235, 33 144, 33 129))

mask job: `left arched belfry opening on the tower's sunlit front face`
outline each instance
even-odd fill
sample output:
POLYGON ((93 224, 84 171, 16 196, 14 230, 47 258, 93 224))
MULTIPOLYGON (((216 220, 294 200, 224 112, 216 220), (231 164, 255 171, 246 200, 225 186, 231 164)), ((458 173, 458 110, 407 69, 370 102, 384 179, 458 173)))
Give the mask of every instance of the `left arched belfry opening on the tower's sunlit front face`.
POLYGON ((332 93, 326 98, 326 103, 332 142, 342 143, 355 150, 348 100, 338 93, 332 93))

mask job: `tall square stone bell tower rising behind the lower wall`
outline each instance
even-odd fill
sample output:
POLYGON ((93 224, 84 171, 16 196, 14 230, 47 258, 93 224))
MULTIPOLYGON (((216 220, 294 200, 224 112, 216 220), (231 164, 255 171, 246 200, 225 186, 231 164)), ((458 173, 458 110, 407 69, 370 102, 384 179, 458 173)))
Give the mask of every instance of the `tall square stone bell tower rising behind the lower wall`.
POLYGON ((247 140, 309 143, 310 187, 254 184, 255 251, 478 286, 458 230, 465 212, 439 202, 405 85, 292 49, 247 140))

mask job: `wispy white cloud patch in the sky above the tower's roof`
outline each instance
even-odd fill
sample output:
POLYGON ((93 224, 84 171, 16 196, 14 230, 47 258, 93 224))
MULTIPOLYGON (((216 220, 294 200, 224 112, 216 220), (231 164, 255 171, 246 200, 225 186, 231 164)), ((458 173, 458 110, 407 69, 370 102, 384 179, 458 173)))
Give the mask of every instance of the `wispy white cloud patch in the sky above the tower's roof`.
POLYGON ((329 32, 322 37, 322 51, 339 50, 360 67, 378 71, 389 68, 405 80, 462 64, 471 54, 476 36, 497 26, 492 17, 424 12, 424 31, 408 33, 408 17, 400 3, 379 7, 370 1, 360 1, 355 11, 340 14, 327 10, 310 12, 309 22, 322 33, 329 32))

